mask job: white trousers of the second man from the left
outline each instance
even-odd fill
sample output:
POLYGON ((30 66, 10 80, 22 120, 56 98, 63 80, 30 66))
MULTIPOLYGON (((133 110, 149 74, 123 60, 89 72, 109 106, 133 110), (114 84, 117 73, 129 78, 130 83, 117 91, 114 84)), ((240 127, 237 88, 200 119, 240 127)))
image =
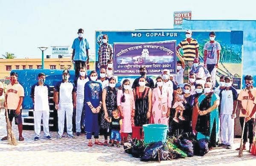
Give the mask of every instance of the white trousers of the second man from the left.
POLYGON ((49 111, 34 111, 34 128, 35 137, 40 137, 41 119, 43 118, 44 137, 50 135, 49 133, 49 111))

